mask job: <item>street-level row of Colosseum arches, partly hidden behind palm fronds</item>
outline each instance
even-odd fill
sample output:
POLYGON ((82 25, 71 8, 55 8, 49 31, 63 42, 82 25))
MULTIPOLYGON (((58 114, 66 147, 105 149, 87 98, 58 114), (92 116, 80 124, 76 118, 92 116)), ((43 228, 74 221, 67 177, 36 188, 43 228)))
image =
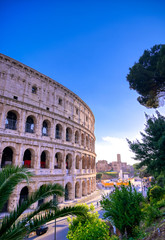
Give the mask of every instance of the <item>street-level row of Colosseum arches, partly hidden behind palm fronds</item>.
MULTIPOLYGON (((77 198, 81 198, 83 196, 87 196, 94 192, 95 190, 96 181, 95 178, 83 180, 82 182, 80 180, 76 181, 75 185, 71 182, 67 182, 65 184, 65 193, 64 193, 64 201, 74 200, 77 198)), ((42 186, 41 186, 42 187, 42 186)), ((23 201, 26 201, 27 198, 31 195, 32 190, 30 189, 30 186, 24 186, 18 195, 17 204, 21 205, 23 201)), ((59 200, 59 197, 54 195, 53 200, 59 200)), ((37 206, 40 206, 45 199, 40 199, 37 203, 37 206)), ((37 207, 36 206, 36 207, 37 207)), ((8 201, 4 205, 2 212, 8 211, 8 201)))

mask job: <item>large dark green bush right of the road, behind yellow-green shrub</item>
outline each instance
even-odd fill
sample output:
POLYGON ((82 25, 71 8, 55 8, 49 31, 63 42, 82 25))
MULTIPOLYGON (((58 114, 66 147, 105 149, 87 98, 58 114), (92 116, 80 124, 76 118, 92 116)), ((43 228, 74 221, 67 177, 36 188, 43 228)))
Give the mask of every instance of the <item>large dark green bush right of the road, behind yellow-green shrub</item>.
POLYGON ((127 236, 131 237, 143 218, 140 205, 142 201, 142 194, 132 189, 129 184, 128 187, 121 186, 121 189, 116 187, 109 198, 103 197, 101 206, 105 210, 104 217, 108 218, 122 235, 126 232, 127 236))

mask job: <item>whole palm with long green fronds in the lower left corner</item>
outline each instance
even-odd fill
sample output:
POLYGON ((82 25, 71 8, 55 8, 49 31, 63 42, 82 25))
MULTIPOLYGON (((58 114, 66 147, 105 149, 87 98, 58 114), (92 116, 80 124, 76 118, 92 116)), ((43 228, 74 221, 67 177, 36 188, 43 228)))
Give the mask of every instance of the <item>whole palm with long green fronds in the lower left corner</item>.
MULTIPOLYGON (((23 167, 7 166, 2 169, 0 172, 0 210, 2 210, 16 185, 22 180, 28 182, 31 176, 32 174, 23 167)), ((57 202, 49 201, 42 203, 33 212, 21 218, 22 213, 33 203, 55 194, 63 196, 64 188, 60 184, 42 185, 36 192, 28 197, 28 199, 24 200, 21 205, 18 205, 9 216, 3 218, 0 224, 0 239, 21 240, 42 224, 59 217, 67 215, 86 216, 86 209, 84 206, 77 205, 59 209, 57 202)))

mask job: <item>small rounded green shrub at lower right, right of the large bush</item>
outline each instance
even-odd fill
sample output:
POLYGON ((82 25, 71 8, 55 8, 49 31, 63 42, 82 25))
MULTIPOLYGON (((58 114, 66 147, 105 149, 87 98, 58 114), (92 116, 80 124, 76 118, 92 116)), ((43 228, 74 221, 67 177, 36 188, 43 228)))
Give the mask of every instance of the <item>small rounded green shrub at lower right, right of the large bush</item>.
POLYGON ((161 216, 161 212, 156 204, 146 204, 143 208, 143 213, 145 216, 145 225, 147 227, 161 216))

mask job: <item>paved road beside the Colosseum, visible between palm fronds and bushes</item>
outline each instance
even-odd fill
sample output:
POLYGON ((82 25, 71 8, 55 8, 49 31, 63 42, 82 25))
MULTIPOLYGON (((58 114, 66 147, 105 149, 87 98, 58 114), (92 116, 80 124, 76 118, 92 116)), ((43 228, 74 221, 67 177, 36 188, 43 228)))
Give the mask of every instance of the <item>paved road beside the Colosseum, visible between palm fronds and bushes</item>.
MULTIPOLYGON (((90 205, 93 203, 95 206, 95 209, 99 213, 99 217, 103 217, 103 211, 101 210, 100 206, 97 207, 97 202, 101 199, 101 195, 96 197, 95 199, 88 201, 87 204, 90 205)), ((28 238, 29 240, 54 240, 54 230, 55 230, 55 222, 51 221, 47 223, 49 229, 47 233, 37 236, 35 232, 31 233, 30 237, 28 238)), ((68 222, 67 222, 67 217, 57 219, 56 221, 56 240, 67 240, 66 235, 68 233, 68 222)))

